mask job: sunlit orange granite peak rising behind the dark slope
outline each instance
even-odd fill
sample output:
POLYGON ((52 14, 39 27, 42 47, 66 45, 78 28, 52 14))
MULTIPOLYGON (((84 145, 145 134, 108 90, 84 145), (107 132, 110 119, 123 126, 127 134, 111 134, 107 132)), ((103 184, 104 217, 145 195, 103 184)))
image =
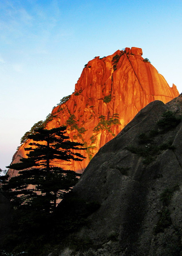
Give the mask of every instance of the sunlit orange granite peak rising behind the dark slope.
MULTIPOLYGON (((141 55, 141 48, 132 47, 90 60, 69 100, 53 109, 53 118, 46 128, 66 124, 71 140, 88 147, 87 151, 81 152, 87 159, 60 162, 64 169, 82 172, 99 148, 117 135, 141 108, 153 100, 166 103, 179 95, 176 86, 173 84, 171 88, 141 55)), ((26 157, 24 148, 28 143, 30 140, 15 153, 13 163, 26 157)), ((16 173, 9 171, 10 176, 16 173)))

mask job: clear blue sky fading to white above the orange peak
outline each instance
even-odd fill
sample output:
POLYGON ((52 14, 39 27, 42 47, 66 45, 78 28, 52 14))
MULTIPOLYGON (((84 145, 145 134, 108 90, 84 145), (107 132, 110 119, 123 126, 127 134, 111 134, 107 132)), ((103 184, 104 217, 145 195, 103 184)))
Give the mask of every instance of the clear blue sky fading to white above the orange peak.
POLYGON ((95 56, 142 48, 181 93, 181 12, 181 0, 0 0, 0 168, 95 56))

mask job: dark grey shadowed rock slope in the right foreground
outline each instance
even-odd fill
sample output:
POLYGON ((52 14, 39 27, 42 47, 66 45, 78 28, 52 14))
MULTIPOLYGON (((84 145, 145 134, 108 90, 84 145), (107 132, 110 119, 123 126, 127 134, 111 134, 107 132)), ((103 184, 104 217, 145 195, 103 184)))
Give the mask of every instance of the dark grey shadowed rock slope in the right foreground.
POLYGON ((72 236, 91 245, 59 255, 181 255, 180 115, 182 95, 151 102, 99 150, 73 189, 74 198, 101 205, 72 236))

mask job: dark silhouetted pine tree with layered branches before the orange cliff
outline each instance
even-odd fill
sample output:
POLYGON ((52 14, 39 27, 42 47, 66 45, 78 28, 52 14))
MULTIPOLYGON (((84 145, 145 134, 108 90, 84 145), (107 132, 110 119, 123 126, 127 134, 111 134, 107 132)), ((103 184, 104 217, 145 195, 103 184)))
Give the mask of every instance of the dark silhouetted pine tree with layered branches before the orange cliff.
POLYGON ((38 128, 28 136, 33 142, 25 148, 27 158, 7 168, 19 170, 19 175, 4 181, 3 190, 8 191, 15 206, 29 205, 31 209, 53 212, 57 199, 62 199, 78 181, 80 174, 55 166, 58 161, 82 161, 78 150, 83 144, 72 142, 65 136, 66 127, 47 130, 38 128))

